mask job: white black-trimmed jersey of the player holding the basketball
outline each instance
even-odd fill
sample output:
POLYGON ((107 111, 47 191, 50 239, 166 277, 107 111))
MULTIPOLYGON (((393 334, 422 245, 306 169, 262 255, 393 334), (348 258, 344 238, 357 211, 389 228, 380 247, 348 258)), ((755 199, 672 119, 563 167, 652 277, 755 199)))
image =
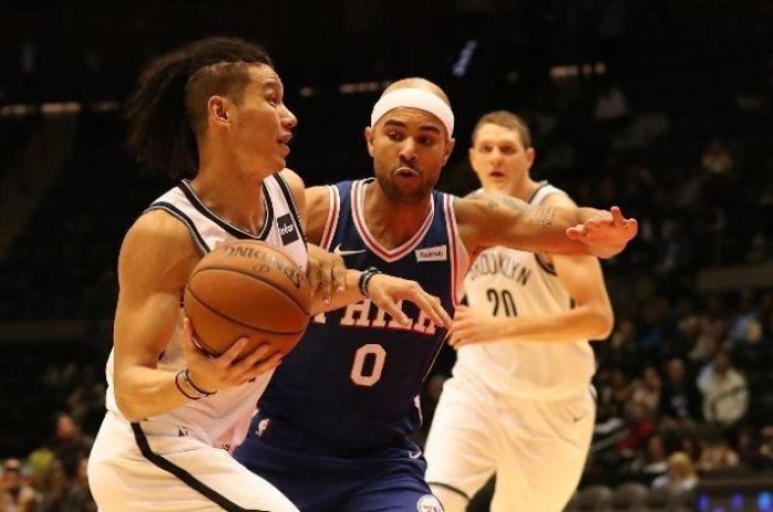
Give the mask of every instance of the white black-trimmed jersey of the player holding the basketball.
MULTIPOLYGON (((289 186, 279 174, 263 182, 263 201, 266 218, 261 232, 255 235, 233 226, 211 212, 195 195, 188 181, 182 181, 157 199, 147 211, 163 210, 177 217, 189 230, 201 249, 202 256, 224 242, 233 239, 260 239, 282 247, 306 271, 306 236, 289 186)), ((182 348, 182 306, 174 333, 165 351, 159 354, 158 367, 177 371, 186 366, 182 348)), ((123 418, 115 401, 113 388, 113 358, 107 361, 107 409, 123 418)), ((263 394, 273 372, 237 387, 219 391, 216 395, 200 401, 189 401, 170 413, 140 422, 144 431, 176 433, 194 436, 212 446, 233 449, 239 445, 250 424, 257 398, 263 394)))

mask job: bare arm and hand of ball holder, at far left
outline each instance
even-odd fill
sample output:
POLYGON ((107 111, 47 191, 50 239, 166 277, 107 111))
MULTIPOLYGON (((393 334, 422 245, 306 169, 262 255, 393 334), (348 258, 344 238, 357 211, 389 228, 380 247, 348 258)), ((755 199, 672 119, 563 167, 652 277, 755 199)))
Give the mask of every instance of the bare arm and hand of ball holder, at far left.
MULTIPOLYGON (((158 369, 158 360, 180 317, 180 301, 200 253, 186 226, 162 211, 140 216, 131 226, 118 258, 118 305, 114 324, 114 384, 118 408, 136 422, 173 410, 195 391, 177 372, 158 369), (177 383, 176 383, 177 381, 177 383)), ((244 348, 235 343, 216 359, 195 349, 186 337, 190 380, 200 388, 218 390, 242 384, 276 365, 256 349, 234 363, 244 348)))

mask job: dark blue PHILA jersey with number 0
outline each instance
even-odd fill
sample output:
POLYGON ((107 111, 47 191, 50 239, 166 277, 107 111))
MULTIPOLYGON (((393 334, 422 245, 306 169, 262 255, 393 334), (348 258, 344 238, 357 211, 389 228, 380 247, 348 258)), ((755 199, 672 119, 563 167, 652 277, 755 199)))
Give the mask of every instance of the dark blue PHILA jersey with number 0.
MULTIPOLYGON (((386 249, 366 224, 367 186, 378 185, 370 179, 329 188, 322 246, 341 254, 349 268, 374 266, 420 282, 453 313, 468 263, 453 196, 433 192, 422 227, 386 249)), ((370 299, 315 317, 258 403, 262 440, 333 457, 402 444, 421 424, 419 395, 446 334, 414 305, 403 303, 403 311, 410 326, 393 321, 370 299)))

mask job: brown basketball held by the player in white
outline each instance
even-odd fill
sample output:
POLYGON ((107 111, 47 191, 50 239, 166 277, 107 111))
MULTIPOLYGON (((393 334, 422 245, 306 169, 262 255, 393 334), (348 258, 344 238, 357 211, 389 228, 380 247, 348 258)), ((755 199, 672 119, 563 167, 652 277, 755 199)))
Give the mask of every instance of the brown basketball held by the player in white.
POLYGON ((247 337, 269 355, 295 348, 309 321, 306 274, 284 252, 257 241, 230 242, 205 255, 188 279, 184 310, 195 341, 220 355, 247 337))

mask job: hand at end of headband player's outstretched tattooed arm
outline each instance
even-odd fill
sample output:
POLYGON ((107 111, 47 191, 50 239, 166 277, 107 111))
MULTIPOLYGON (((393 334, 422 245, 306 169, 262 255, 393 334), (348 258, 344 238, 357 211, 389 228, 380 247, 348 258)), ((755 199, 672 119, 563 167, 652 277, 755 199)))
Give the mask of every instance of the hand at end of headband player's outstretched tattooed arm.
POLYGON ((566 236, 586 244, 591 254, 611 258, 620 254, 638 233, 636 218, 625 218, 620 207, 612 206, 604 215, 589 218, 566 230, 566 236))

